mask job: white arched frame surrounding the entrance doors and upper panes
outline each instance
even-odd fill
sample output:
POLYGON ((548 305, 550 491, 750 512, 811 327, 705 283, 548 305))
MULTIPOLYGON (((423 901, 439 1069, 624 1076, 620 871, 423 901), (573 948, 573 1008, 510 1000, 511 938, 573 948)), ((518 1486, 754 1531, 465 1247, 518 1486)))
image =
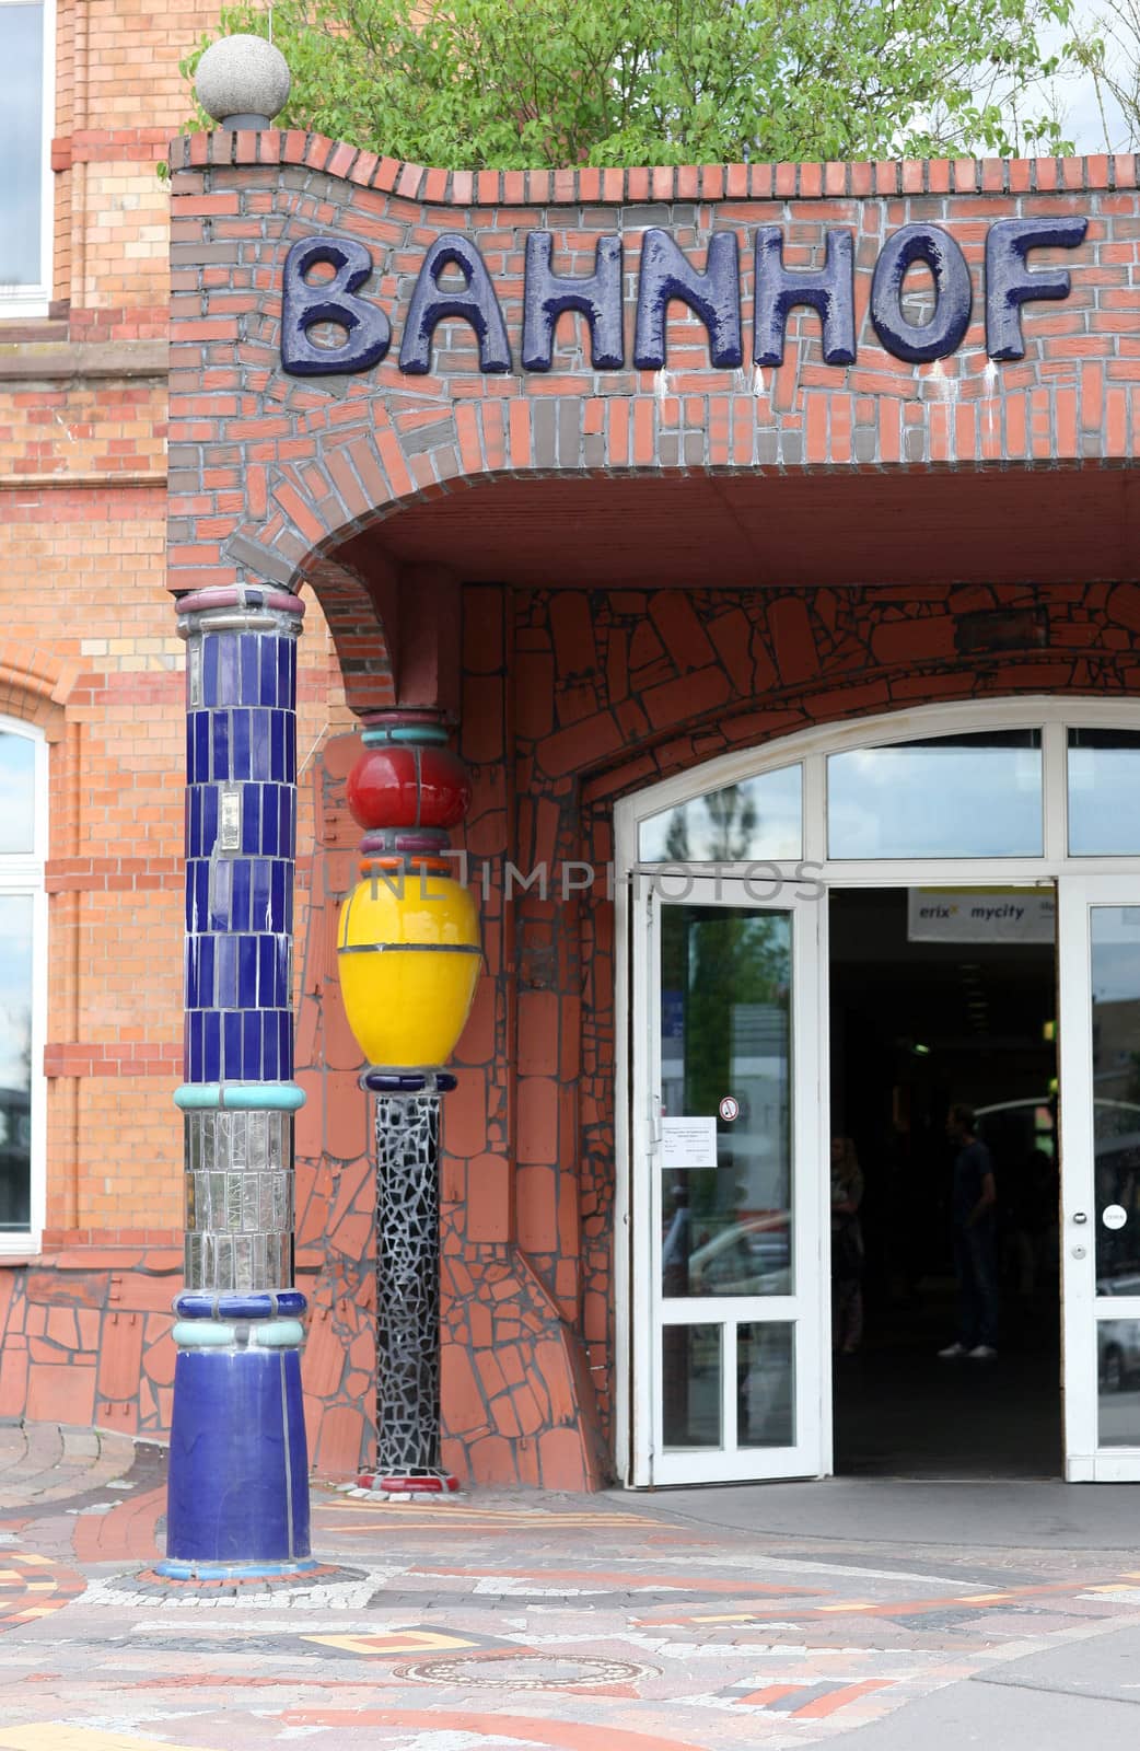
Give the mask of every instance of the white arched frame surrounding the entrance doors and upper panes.
MULTIPOLYGON (((765 742, 762 748, 742 748, 720 755, 699 767, 664 779, 636 795, 618 800, 615 805, 615 1044, 616 1044, 616 1079, 615 1079, 615 1459, 622 1481, 634 1485, 641 1481, 634 1466, 634 1452, 644 1453, 646 1431, 639 1427, 644 1406, 637 1408, 639 1389, 636 1382, 646 1382, 648 1345, 651 1320, 636 1317, 634 1294, 644 1308, 643 1276, 636 1269, 632 1250, 634 1234, 634 1164, 644 1163, 637 1154, 643 1143, 634 1136, 637 1114, 634 1112, 634 1087, 630 1086, 630 1051, 634 1045, 634 1005, 636 1014, 651 1014, 646 1009, 650 989, 646 986, 646 963, 650 956, 643 953, 644 944, 637 944, 634 925, 634 905, 630 886, 636 879, 646 879, 658 870, 658 865, 637 861, 637 828, 648 816, 676 807, 706 791, 725 784, 739 783, 762 772, 781 767, 802 765, 804 772, 804 842, 802 860, 772 865, 786 883, 795 884, 807 876, 825 890, 830 888, 949 888, 949 886, 1054 886, 1059 895, 1068 893, 1072 881, 1091 881, 1093 877, 1115 877, 1128 883, 1128 891, 1135 904, 1140 904, 1140 854, 1136 856, 1068 856, 1068 790, 1066 790, 1066 730, 1080 728, 1121 728, 1140 732, 1140 702, 1073 699, 1073 697, 1035 697, 968 700, 954 706, 923 706, 912 711, 898 711, 874 718, 846 720, 842 723, 823 725, 797 732, 779 741, 765 742), (827 854, 827 758, 844 749, 905 742, 921 737, 963 734, 968 730, 1003 730, 1003 728, 1040 728, 1042 732, 1042 777, 1044 777, 1044 839, 1040 856, 1019 858, 914 858, 914 860, 830 860, 827 854)), ((709 865, 693 865, 693 874, 714 874, 709 865)), ((744 865, 720 865, 720 874, 728 879, 744 876, 744 865)), ((1061 902, 1063 905, 1063 902, 1061 902)), ((1059 911, 1061 911, 1059 905, 1059 911)), ((823 909, 827 911, 827 909, 823 909)), ((821 932, 821 1014, 827 1016, 827 932, 821 932)), ((1063 975, 1061 975, 1063 977, 1063 975)), ((1072 1030, 1070 1030, 1072 1033, 1072 1030)), ((1070 1072, 1072 1073, 1072 1072, 1070 1072)), ((820 1077, 820 1112, 823 1135, 827 1136, 828 1077, 827 1063, 821 1065, 820 1077)), ((1061 1101, 1065 1110, 1065 1096, 1061 1101)), ((1070 1091, 1072 1110, 1072 1091, 1070 1091)), ((1065 1133, 1063 1133, 1065 1135, 1065 1133)), ((821 1173, 827 1171, 827 1152, 821 1154, 821 1173)), ((639 1212, 637 1212, 639 1213, 639 1212)), ((821 1224, 825 1226, 825 1224, 821 1224)), ((825 1238, 823 1254, 828 1250, 825 1238)), ((827 1264, 827 1257, 821 1257, 827 1264)), ((827 1282, 827 1278, 823 1278, 827 1282)), ((1140 1303, 1138 1303, 1140 1304, 1140 1303)), ((1124 1313, 1124 1301, 1114 1304, 1114 1311, 1124 1313)), ((1140 1315, 1138 1315, 1140 1317, 1140 1315)), ((1073 1340, 1075 1341, 1075 1340, 1073 1340)), ((1089 1343, 1094 1333, 1089 1320, 1089 1343)), ((1072 1355, 1073 1352, 1070 1352, 1072 1355)), ((828 1357, 825 1355, 825 1364, 828 1357)), ((1072 1373, 1072 1369, 1070 1369, 1072 1373)), ((1093 1368, 1093 1385, 1096 1371, 1093 1368)), ((1065 1397, 1072 1390, 1072 1380, 1065 1383, 1065 1397)), ((820 1438, 823 1469, 830 1471, 830 1366, 821 1368, 820 1380, 820 1438)), ((1066 1422, 1068 1431, 1068 1422, 1066 1422)), ((1121 1450, 1128 1453, 1131 1450, 1121 1450)), ((1094 1474, 1101 1476, 1117 1462, 1096 1462, 1094 1474)), ((1103 1459, 1103 1455, 1101 1455, 1103 1459)), ((1079 1480, 1080 1467, 1072 1473, 1079 1480)), ((1140 1473, 1136 1473, 1140 1474, 1140 1473)))

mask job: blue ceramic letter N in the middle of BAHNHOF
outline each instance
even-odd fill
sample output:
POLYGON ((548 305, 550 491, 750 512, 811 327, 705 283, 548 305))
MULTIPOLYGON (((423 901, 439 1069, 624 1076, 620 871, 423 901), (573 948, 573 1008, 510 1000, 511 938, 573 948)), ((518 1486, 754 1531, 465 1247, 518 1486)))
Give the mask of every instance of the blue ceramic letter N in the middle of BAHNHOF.
POLYGON ((660 371, 665 364, 665 319, 672 298, 679 298, 704 322, 714 366, 734 369, 744 362, 735 231, 718 231, 711 238, 704 273, 693 268, 667 231, 655 226, 646 231, 641 240, 634 333, 634 364, 639 371, 660 371))

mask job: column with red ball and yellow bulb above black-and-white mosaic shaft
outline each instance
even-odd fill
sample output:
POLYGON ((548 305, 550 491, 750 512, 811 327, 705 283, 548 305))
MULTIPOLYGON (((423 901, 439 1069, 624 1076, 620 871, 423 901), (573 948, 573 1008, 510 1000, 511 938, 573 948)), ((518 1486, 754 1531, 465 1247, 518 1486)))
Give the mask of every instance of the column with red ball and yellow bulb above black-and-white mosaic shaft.
POLYGON ((448 828, 471 802, 434 711, 368 720, 348 777, 361 883, 340 921, 340 982, 376 1096, 376 1471, 380 1494, 459 1485, 440 1464, 440 1094, 480 970, 448 828))

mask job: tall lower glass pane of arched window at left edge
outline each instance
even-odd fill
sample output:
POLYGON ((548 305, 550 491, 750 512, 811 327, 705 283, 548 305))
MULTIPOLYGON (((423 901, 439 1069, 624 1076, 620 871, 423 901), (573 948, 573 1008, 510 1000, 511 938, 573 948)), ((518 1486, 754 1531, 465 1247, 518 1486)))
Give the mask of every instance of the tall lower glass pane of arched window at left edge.
POLYGON ((0 893, 0 1233, 32 1222, 32 895, 0 893))

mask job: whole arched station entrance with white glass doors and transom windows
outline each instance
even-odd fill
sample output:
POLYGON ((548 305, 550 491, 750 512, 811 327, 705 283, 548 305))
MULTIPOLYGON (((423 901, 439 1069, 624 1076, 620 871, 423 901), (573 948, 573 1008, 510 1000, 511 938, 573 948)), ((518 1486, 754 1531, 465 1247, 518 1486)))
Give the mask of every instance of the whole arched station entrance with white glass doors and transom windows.
POLYGON ((1135 707, 806 732, 618 804, 615 856, 625 1481, 1140 1481, 1135 707), (958 1373, 951 1100, 995 1156, 1005 1289, 1002 1354, 958 1373), (869 1257, 834 1392, 837 1135, 869 1257))

